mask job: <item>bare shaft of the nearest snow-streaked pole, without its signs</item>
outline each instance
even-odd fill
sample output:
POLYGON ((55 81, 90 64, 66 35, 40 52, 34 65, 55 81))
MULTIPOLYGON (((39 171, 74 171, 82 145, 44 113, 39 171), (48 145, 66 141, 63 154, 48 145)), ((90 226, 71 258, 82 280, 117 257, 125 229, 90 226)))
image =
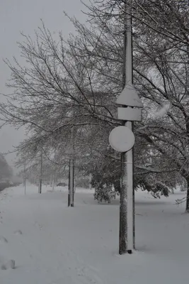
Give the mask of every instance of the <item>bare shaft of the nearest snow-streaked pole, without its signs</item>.
MULTIPOLYGON (((132 0, 125 2, 125 37, 123 87, 132 84, 132 0)), ((124 123, 132 130, 132 122, 124 123)), ((122 180, 120 190, 120 247, 119 253, 132 253, 134 249, 134 192, 133 192, 133 152, 121 154, 122 180)))

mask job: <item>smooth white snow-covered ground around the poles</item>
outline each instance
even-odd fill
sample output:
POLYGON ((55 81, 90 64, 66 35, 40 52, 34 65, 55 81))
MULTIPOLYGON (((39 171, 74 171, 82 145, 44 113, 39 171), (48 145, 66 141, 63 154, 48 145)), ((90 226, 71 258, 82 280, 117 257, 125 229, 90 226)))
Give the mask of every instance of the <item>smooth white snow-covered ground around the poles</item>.
POLYGON ((90 190, 27 186, 0 192, 1 284, 188 283, 189 215, 175 204, 185 193, 154 200, 136 193, 136 246, 119 256, 119 202, 97 204, 90 190))

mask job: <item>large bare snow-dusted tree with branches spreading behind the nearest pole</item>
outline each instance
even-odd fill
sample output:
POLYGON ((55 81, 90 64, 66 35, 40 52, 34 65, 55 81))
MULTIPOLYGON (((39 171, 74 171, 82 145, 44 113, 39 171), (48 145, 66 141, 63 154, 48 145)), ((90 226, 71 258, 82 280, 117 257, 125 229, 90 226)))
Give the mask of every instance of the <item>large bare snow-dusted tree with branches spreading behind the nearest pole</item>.
MULTIPOLYGON (((0 107, 5 122, 24 125, 30 133, 22 151, 36 153, 43 141, 50 152, 61 143, 69 144, 73 125, 78 136, 90 127, 86 141, 88 153, 96 151, 93 165, 98 165, 100 157, 119 164, 119 157, 108 149, 108 133, 120 124, 114 102, 122 89, 123 4, 96 1, 88 7, 91 27, 70 19, 77 35, 67 42, 60 34, 56 43, 44 25, 35 40, 23 35, 20 48, 27 67, 16 59, 13 64, 6 60, 12 71, 8 87, 13 94, 0 107), (93 147, 89 146, 88 138, 95 131, 100 133, 102 148, 96 147, 94 137, 93 147)), ((164 173, 170 177, 180 173, 188 182, 188 211, 188 6, 183 4, 133 1, 134 84, 145 105, 142 123, 135 124, 137 141, 144 145, 142 149, 136 145, 135 168, 140 176, 159 175, 162 180, 164 173)), ((77 145, 80 157, 84 153, 81 141, 77 145)))

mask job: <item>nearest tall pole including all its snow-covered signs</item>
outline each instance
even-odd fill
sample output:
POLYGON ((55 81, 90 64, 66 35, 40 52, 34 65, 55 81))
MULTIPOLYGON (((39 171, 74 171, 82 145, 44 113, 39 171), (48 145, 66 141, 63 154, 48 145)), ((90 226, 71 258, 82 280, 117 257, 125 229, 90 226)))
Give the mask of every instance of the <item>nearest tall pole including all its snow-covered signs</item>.
POLYGON ((134 202, 133 202, 133 151, 134 133, 132 121, 141 121, 142 101, 132 84, 132 16, 131 2, 126 4, 125 87, 118 97, 118 119, 122 126, 110 132, 110 145, 121 153, 122 178, 120 186, 120 237, 119 253, 132 253, 134 249, 134 202))

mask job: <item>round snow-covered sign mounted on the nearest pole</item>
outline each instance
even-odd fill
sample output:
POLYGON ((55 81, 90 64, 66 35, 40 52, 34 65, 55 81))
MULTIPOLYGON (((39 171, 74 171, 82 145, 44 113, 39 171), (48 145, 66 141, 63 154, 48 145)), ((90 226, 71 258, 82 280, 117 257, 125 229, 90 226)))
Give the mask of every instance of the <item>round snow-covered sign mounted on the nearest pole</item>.
POLYGON ((134 140, 134 133, 127 126, 115 127, 109 136, 110 146, 118 152, 129 151, 134 146, 134 140))

